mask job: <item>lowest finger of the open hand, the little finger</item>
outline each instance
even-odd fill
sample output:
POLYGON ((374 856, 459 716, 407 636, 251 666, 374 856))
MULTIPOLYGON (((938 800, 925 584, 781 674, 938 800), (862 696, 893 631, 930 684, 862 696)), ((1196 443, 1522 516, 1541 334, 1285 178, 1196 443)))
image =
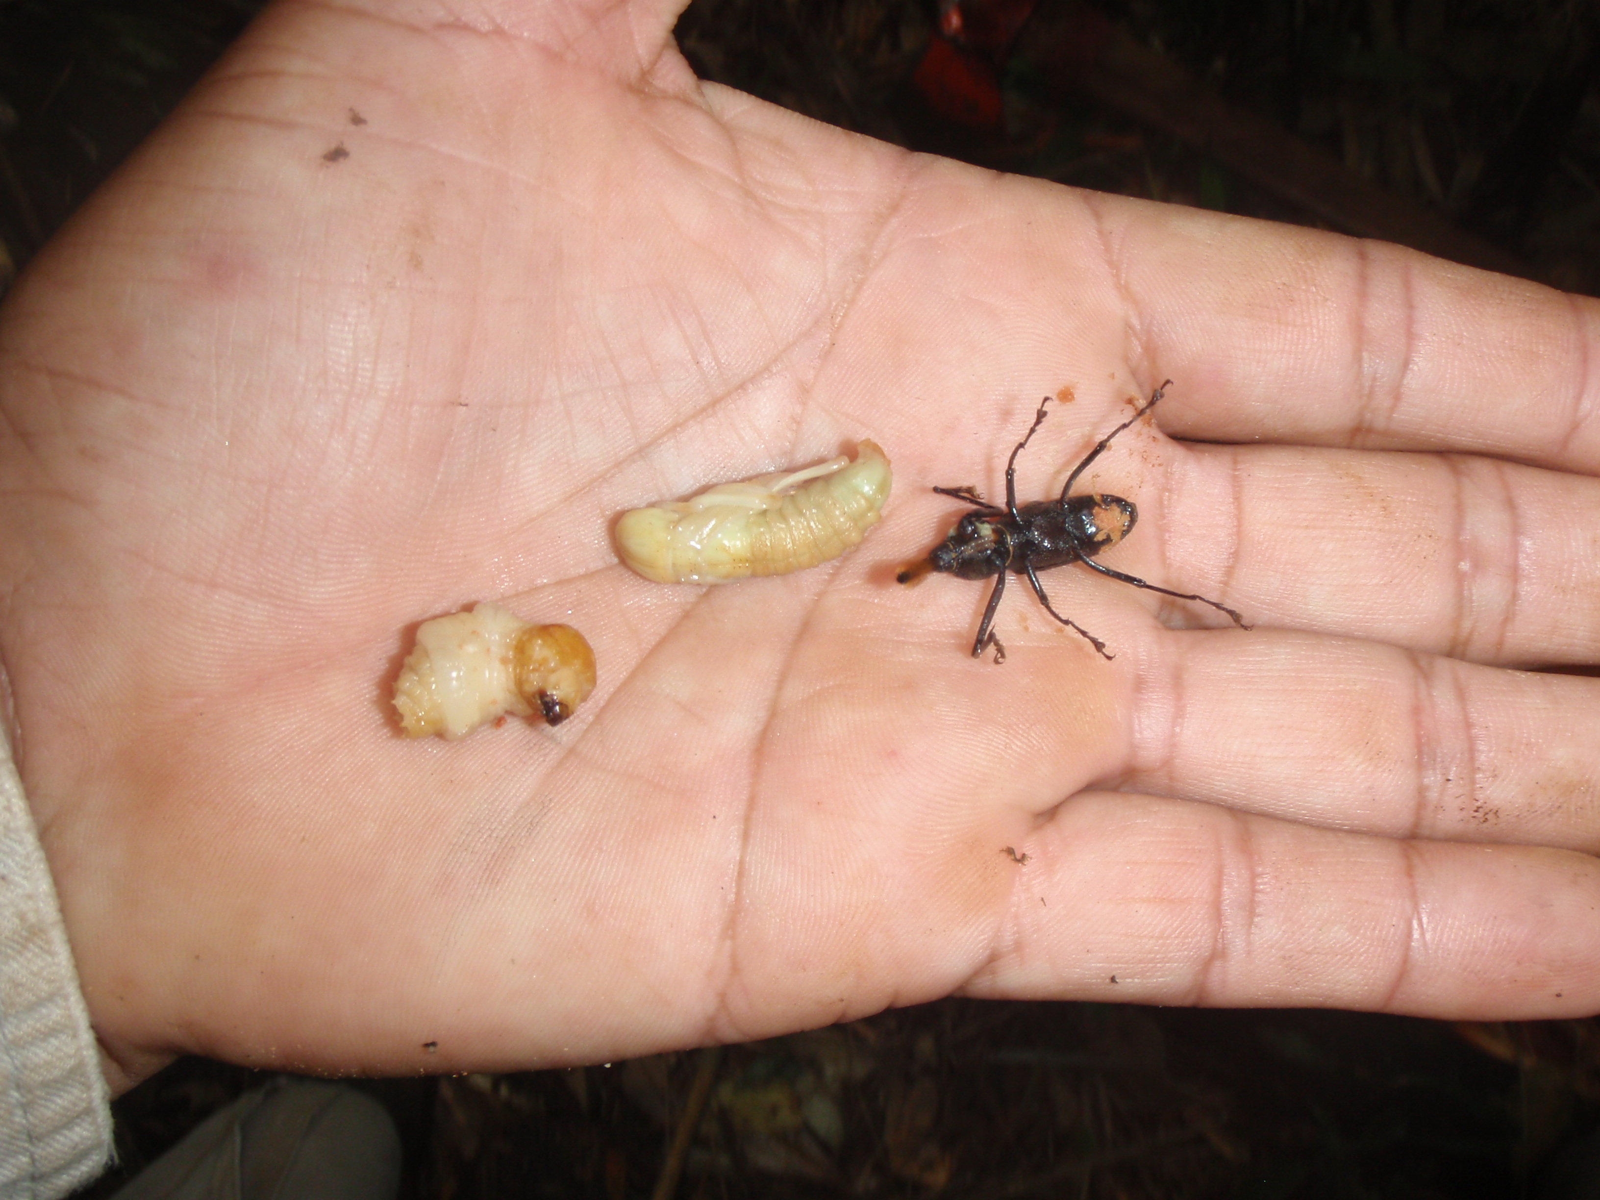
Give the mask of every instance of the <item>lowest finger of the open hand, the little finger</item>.
POLYGON ((1014 864, 974 995, 1360 1008, 1456 1019, 1600 1006, 1600 862, 1395 842, 1082 794, 1014 864))

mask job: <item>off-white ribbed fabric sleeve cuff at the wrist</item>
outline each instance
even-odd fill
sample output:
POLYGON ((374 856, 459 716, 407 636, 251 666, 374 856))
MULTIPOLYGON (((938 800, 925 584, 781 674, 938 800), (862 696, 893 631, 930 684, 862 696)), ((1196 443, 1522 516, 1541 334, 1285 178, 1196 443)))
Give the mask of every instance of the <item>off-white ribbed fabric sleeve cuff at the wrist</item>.
POLYGON ((54 1200, 110 1163, 106 1077, 50 864, 0 731, 0 1200, 54 1200))

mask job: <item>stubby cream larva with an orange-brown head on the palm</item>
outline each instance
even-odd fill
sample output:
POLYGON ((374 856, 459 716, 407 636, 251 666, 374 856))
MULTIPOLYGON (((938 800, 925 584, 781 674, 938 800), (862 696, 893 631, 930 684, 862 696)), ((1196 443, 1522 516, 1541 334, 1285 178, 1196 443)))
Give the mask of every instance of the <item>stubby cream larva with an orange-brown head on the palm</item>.
POLYGON ((395 709, 408 738, 459 738, 502 714, 560 725, 594 690, 595 654, 576 629, 478 605, 418 626, 395 709))

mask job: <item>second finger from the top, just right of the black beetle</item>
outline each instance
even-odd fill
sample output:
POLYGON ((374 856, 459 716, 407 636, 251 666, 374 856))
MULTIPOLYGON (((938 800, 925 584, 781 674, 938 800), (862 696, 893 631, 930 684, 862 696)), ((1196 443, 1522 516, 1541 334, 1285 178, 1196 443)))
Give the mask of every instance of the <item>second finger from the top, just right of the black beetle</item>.
POLYGON ((1456 454, 1192 446, 1141 509, 1157 536, 1107 563, 1155 555, 1152 582, 1256 624, 1483 662, 1600 661, 1600 480, 1456 454))

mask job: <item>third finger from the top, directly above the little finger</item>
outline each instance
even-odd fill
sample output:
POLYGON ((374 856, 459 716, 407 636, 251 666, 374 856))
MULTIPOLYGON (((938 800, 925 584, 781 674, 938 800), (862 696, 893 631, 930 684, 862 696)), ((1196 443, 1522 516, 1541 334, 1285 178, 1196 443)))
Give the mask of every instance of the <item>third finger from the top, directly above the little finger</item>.
POLYGON ((1600 680, 1306 634, 1165 638, 1126 782, 1392 837, 1600 851, 1600 680))

